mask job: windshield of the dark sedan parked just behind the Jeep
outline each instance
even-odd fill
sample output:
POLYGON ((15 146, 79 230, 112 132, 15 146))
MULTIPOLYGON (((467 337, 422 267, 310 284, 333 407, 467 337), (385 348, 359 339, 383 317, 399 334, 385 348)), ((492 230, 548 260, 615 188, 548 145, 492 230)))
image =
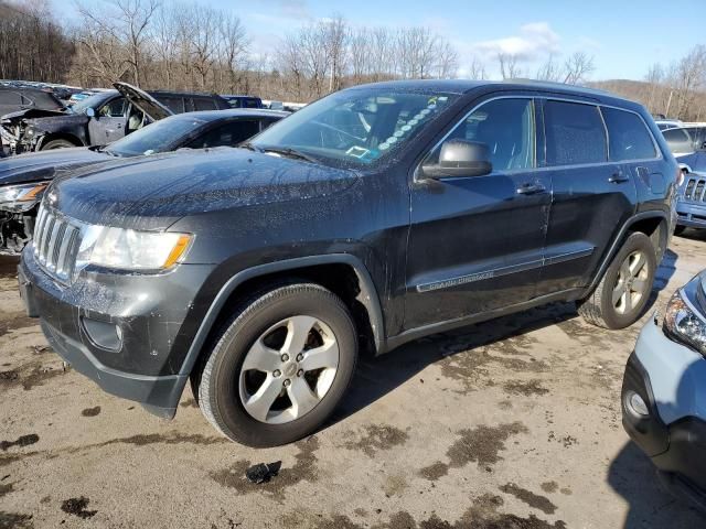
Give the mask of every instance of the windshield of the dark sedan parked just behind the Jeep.
POLYGON ((110 143, 106 152, 117 156, 139 156, 173 149, 174 142, 204 125, 204 119, 175 116, 161 119, 110 143))

